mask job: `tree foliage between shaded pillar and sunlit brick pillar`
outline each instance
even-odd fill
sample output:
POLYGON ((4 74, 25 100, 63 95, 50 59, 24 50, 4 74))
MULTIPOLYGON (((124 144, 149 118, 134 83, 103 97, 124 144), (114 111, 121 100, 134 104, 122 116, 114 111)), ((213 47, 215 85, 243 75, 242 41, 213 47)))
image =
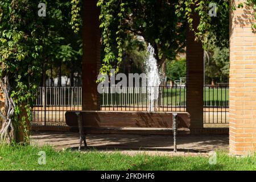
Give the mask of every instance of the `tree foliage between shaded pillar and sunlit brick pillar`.
POLYGON ((229 4, 220 2, 217 17, 211 17, 205 32, 205 82, 228 82, 229 77, 229 4))

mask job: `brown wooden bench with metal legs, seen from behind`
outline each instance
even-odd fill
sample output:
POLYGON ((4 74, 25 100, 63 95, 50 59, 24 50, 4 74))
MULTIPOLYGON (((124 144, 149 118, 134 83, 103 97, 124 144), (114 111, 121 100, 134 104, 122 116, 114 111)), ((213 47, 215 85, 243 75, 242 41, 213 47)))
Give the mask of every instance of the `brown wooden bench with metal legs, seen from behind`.
POLYGON ((90 133, 137 133, 151 134, 164 131, 176 135, 189 134, 190 115, 187 112, 146 112, 146 111, 67 111, 66 123, 70 131, 79 131, 86 144, 86 134, 90 133))

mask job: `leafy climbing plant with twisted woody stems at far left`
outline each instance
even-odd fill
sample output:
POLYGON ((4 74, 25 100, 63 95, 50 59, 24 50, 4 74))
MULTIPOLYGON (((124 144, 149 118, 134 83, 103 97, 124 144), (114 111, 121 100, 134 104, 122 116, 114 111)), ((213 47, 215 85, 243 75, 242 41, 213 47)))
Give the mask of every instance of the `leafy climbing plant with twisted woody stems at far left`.
POLYGON ((31 107, 45 64, 57 60, 71 65, 81 55, 80 35, 72 34, 68 21, 70 0, 41 2, 46 3, 46 17, 38 15, 34 0, 0 1, 0 87, 5 98, 0 142, 28 143, 31 107))

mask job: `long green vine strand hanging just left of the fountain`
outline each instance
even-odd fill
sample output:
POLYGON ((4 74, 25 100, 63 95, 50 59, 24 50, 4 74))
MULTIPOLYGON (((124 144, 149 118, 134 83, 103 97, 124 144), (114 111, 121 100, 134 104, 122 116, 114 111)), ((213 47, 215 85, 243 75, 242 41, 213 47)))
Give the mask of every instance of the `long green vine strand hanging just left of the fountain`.
POLYGON ((125 3, 119 0, 100 0, 97 6, 101 8, 99 18, 105 52, 100 73, 109 75, 112 68, 115 68, 115 72, 119 71, 119 65, 122 61, 121 34, 123 33, 122 20, 125 3))

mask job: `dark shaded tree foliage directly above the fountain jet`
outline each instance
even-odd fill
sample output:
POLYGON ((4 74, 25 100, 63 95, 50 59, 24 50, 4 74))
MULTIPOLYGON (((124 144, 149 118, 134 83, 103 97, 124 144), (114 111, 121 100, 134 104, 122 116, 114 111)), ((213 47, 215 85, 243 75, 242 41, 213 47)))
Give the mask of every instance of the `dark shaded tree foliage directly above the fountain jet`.
POLYGON ((161 67, 185 47, 185 19, 175 14, 178 1, 129 1, 123 26, 126 32, 143 36, 155 49, 161 67))

